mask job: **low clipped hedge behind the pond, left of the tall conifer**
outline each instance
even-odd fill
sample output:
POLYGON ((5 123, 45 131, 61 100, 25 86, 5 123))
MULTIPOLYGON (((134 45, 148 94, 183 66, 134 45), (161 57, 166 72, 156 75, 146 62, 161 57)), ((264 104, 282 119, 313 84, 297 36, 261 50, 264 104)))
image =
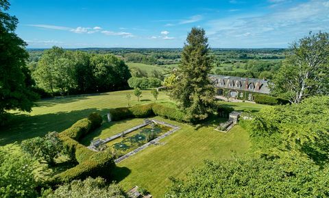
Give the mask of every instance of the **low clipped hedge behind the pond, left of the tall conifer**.
POLYGON ((186 118, 186 115, 174 108, 161 106, 157 103, 150 103, 142 106, 134 106, 130 108, 115 108, 110 110, 112 121, 119 121, 122 119, 129 119, 133 117, 146 118, 149 116, 162 116, 166 119, 175 121, 191 122, 186 118))

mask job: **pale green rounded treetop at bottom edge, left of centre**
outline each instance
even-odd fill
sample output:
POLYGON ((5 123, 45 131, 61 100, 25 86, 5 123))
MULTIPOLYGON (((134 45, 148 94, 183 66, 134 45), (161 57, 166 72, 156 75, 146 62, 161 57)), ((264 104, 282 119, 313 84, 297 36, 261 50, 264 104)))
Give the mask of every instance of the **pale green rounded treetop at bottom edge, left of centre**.
POLYGON ((117 184, 106 184, 106 181, 97 177, 88 177, 86 180, 73 180, 70 184, 64 184, 53 192, 46 191, 45 198, 125 198, 125 193, 117 184))

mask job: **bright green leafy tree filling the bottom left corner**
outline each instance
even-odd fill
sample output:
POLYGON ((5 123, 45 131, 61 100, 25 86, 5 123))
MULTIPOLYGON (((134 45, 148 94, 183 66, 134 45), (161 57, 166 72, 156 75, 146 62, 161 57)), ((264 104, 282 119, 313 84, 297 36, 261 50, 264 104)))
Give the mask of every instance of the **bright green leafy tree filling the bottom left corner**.
POLYGON ((37 197, 33 164, 28 156, 0 147, 0 197, 37 197))

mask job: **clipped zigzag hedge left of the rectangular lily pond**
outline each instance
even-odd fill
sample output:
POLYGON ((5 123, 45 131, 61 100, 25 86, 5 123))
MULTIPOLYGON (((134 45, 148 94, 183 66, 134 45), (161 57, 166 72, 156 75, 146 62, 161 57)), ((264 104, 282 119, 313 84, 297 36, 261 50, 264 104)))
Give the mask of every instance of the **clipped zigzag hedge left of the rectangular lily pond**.
POLYGON ((101 125, 102 119, 99 114, 93 113, 87 119, 81 119, 69 129, 60 133, 64 149, 71 159, 79 164, 53 177, 54 184, 71 182, 72 180, 84 180, 86 177, 110 177, 112 168, 115 166, 112 154, 108 151, 95 152, 77 142, 101 125))

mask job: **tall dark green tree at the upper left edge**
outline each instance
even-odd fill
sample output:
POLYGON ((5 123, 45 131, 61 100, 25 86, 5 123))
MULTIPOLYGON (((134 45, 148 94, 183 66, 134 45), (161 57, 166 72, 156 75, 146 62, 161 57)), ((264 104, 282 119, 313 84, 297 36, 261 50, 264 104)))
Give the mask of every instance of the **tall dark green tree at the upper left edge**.
POLYGON ((38 95, 32 91, 34 82, 26 67, 29 55, 26 43, 15 34, 18 19, 5 13, 10 3, 0 1, 0 123, 5 110, 31 111, 38 95))

